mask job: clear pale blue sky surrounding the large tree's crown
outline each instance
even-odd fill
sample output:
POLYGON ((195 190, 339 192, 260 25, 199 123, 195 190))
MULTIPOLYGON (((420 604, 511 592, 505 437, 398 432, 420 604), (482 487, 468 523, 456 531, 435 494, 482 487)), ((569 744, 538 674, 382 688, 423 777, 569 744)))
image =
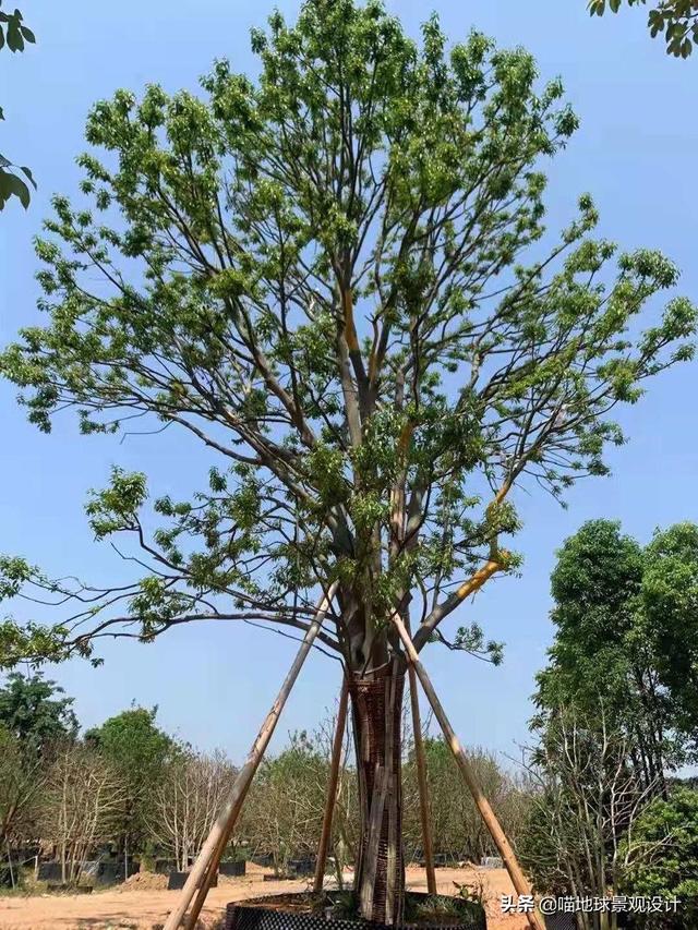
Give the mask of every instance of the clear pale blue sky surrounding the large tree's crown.
MULTIPOLYGON (((417 35, 435 10, 447 34, 471 26, 500 45, 524 45, 543 78, 562 75, 581 118, 568 149, 549 166, 549 226, 571 217, 577 196, 590 191, 601 212, 601 233, 624 247, 660 247, 683 270, 679 292, 698 300, 695 112, 698 62, 664 55, 645 28, 645 12, 590 20, 586 0, 392 0, 386 4, 417 35)), ((282 2, 289 16, 297 3, 282 2)), ((38 44, 23 56, 0 56, 7 122, 4 154, 29 165, 39 183, 25 214, 10 205, 0 221, 0 343, 34 323, 37 263, 32 237, 55 192, 76 191, 75 156, 91 105, 117 87, 195 88, 214 58, 254 72, 249 31, 272 10, 265 0, 147 0, 119 4, 25 0, 23 12, 38 44), (67 12, 68 11, 68 12, 67 12)), ((534 673, 545 662, 552 628, 549 577, 554 552, 587 519, 619 519, 647 541, 655 527, 698 520, 694 493, 698 466, 695 402, 697 364, 670 372, 623 415, 630 443, 611 455, 613 476, 582 483, 563 510, 540 493, 519 494, 526 527, 517 548, 526 557, 520 579, 491 585, 460 615, 506 642, 505 663, 493 668, 432 648, 424 654, 464 741, 517 754, 526 740, 534 673)), ((157 495, 203 484, 206 454, 171 431, 159 437, 84 438, 71 419, 52 435, 29 426, 0 383, 0 551, 20 554, 50 575, 73 573, 108 583, 123 565, 108 545, 92 541, 83 516, 88 488, 106 483, 109 467, 141 469, 157 495)), ((452 624, 453 627, 453 624, 452 624)), ((294 645, 250 627, 172 630, 149 647, 106 648, 104 667, 70 663, 51 674, 76 699, 85 726, 131 701, 159 705, 170 732, 202 748, 221 747, 240 760, 284 677, 294 645)), ((301 675, 278 728, 312 728, 338 688, 336 663, 314 655, 301 675)))

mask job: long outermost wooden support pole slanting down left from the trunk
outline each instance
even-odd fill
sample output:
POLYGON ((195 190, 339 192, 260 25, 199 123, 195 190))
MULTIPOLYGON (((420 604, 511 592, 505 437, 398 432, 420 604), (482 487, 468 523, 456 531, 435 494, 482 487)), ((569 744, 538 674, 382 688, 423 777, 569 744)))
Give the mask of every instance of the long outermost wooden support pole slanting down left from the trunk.
POLYGON ((191 872, 189 873, 189 878, 184 883, 184 887, 182 889, 179 899, 172 910, 170 911, 163 930, 179 930, 181 926, 182 919, 186 914, 186 910, 196 894, 196 901, 192 907, 192 911, 189 915, 188 921, 185 923, 186 928, 192 928, 196 926, 196 921, 198 919, 198 915, 201 913, 201 908, 203 907, 204 901, 206 899, 206 895, 208 894, 208 889, 210 886, 210 880, 215 874, 218 863, 220 861, 220 856, 222 855, 224 849, 226 848, 228 841, 230 840, 230 835, 232 833, 232 829, 236 824, 236 820, 240 813, 240 809, 244 801, 244 798, 248 794, 248 789, 250 784, 252 783, 252 778, 262 761, 262 757, 269 745, 269 740, 280 716, 280 713, 286 704, 288 696, 291 692, 293 685, 296 684, 296 679, 298 678, 298 674, 301 671, 301 667, 308 657, 308 653, 311 650, 311 647, 315 640, 315 637, 320 632, 320 628, 325 619, 327 611, 329 609, 329 604, 336 591, 336 583, 329 589, 326 596, 324 596, 318 605, 317 613, 313 618, 310 627, 308 628, 305 636, 303 637, 303 642, 301 648, 298 651, 296 659, 293 660, 293 664, 286 676, 286 680, 281 685, 281 689, 276 698, 276 701, 272 705, 272 710, 267 714, 260 733, 250 750, 250 754, 248 756, 244 765, 238 773, 232 788, 230 789, 230 794, 228 795, 228 799, 226 800, 225 807, 221 810, 218 819, 216 820, 206 842, 204 843, 201 853, 196 861, 194 862, 191 872))

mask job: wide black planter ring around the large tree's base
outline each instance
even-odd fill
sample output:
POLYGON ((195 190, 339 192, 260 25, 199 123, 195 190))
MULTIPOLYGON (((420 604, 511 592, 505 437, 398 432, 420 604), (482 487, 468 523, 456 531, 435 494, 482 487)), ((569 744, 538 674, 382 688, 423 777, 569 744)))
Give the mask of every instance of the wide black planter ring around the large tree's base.
MULTIPOLYGON (((299 902, 303 897, 311 897, 306 892, 293 895, 299 902)), ((249 902, 233 902, 226 908, 225 930, 366 930, 366 921, 358 918, 327 917, 324 911, 317 914, 303 914, 298 910, 278 910, 274 907, 288 902, 289 895, 273 895, 265 898, 256 898, 249 902)), ((332 902, 342 899, 339 893, 327 895, 332 902)), ((444 897, 445 895, 428 895, 419 892, 408 892, 407 898, 410 904, 426 902, 428 898, 444 897)), ((429 923, 428 930, 486 930, 488 919, 484 908, 480 904, 456 897, 446 898, 450 906, 458 908, 462 915, 458 922, 429 923)), ((386 925, 372 922, 371 930, 386 925)), ((397 925, 390 930, 413 930, 416 925, 397 925)), ((424 925, 426 927, 426 925, 424 925)))

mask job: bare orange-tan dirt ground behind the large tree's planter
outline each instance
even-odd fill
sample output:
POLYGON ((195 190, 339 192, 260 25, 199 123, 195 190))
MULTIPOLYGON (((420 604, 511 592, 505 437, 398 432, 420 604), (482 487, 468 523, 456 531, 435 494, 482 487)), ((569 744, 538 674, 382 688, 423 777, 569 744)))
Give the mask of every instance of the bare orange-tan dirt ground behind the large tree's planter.
MULTIPOLYGON (((202 913, 201 927, 222 927, 225 907, 230 901, 242 901, 261 894, 303 891, 306 881, 264 881, 266 870, 249 866, 249 874, 240 879, 220 879, 212 889, 202 913)), ((502 894, 513 887, 504 869, 437 869, 438 891, 453 894, 454 882, 481 886, 488 908, 488 930, 526 930, 522 915, 503 916, 502 894)), ((423 869, 407 870, 408 887, 426 890, 423 869)), ((147 887, 149 882, 133 882, 91 895, 34 895, 0 897, 0 930, 158 930, 177 897, 176 891, 147 887)))

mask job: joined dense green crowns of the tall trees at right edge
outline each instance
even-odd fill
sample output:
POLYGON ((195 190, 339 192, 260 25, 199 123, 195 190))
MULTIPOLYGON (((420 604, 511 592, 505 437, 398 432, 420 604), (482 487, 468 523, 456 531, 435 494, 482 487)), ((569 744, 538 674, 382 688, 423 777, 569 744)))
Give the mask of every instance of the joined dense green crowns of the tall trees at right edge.
POLYGON ((642 547, 617 522, 566 540, 552 575, 555 639, 538 675, 538 727, 562 708, 605 714, 626 735, 643 784, 696 749, 698 527, 657 531, 642 547))

